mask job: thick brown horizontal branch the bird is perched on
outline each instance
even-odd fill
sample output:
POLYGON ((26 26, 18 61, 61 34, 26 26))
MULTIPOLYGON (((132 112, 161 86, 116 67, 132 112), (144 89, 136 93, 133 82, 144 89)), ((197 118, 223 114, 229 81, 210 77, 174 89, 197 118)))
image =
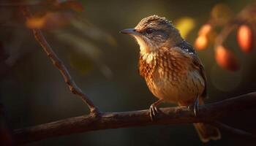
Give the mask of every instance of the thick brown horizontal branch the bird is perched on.
MULTIPOLYGON (((49 137, 58 137, 61 135, 97 131, 108 128, 201 122, 214 123, 214 121, 219 118, 252 107, 256 107, 256 92, 200 106, 197 117, 195 117, 194 113, 188 110, 187 107, 161 108, 161 112, 154 121, 151 121, 151 118, 148 115, 148 110, 108 112, 102 113, 102 115, 98 117, 83 115, 75 118, 58 120, 52 123, 45 123, 39 126, 20 128, 15 130, 15 138, 18 143, 26 143, 49 137)), ((215 126, 219 126, 218 124, 219 123, 215 123, 215 126)), ((223 128, 223 126, 221 128, 223 128)), ((236 130, 237 129, 233 128, 233 131, 236 132, 236 130)), ((236 134, 246 134, 246 132, 243 133, 241 130, 239 131, 240 133, 236 134)), ((255 138, 255 136, 253 136, 253 138, 255 138)))

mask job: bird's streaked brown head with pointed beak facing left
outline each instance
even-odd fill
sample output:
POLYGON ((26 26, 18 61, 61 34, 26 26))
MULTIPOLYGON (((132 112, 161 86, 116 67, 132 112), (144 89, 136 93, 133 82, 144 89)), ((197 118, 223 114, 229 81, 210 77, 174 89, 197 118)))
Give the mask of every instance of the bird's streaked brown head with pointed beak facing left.
POLYGON ((173 23, 157 15, 143 18, 135 28, 124 29, 121 33, 135 37, 143 53, 157 51, 165 45, 173 47, 183 40, 173 23))

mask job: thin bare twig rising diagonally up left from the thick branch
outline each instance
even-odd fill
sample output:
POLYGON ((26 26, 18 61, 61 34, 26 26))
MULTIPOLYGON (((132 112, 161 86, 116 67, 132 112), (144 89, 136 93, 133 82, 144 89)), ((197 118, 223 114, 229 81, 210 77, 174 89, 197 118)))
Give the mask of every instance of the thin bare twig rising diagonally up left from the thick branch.
MULTIPOLYGON (((29 9, 23 8, 22 10, 23 10, 23 15, 26 17, 26 19, 31 18, 31 13, 29 12, 29 9)), ((83 93, 83 91, 78 87, 78 85, 75 84, 75 81, 70 76, 66 66, 64 66, 61 59, 56 55, 56 53, 54 53, 53 49, 50 47, 50 45, 46 41, 45 37, 42 34, 42 31, 40 31, 39 29, 32 29, 32 31, 34 33, 35 39, 37 40, 39 45, 41 45, 43 50, 45 50, 45 53, 53 62, 53 65, 56 66, 57 69, 59 69, 59 72, 61 72, 62 77, 64 77, 64 80, 69 87, 69 90, 72 93, 78 95, 80 99, 82 99, 88 105, 92 115, 98 116, 100 114, 98 108, 93 104, 91 99, 89 99, 89 97, 86 96, 85 93, 83 93)))

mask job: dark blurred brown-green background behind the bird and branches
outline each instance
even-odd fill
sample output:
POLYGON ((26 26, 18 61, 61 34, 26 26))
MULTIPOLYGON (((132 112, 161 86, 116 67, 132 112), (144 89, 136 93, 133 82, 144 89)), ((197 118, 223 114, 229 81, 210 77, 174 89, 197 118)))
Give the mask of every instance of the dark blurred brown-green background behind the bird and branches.
MULTIPOLYGON (((197 31, 207 22, 211 8, 227 4, 239 12, 253 1, 80 1, 78 12, 82 27, 69 25, 43 31, 46 39, 67 65, 75 82, 100 110, 123 112, 148 109, 157 99, 148 91, 137 69, 139 47, 135 40, 119 34, 132 28, 148 15, 165 16, 175 23, 179 18, 195 20, 187 41, 194 43, 197 31), (78 39, 77 39, 78 38, 78 39)), ((34 8, 37 10, 37 8, 34 8)), ((9 57, 1 63, 0 102, 12 128, 23 128, 54 120, 86 115, 88 109, 69 92, 59 71, 24 26, 24 19, 13 7, 0 7, 1 51, 9 57), (15 17, 13 17, 15 13, 15 17), (7 64, 7 65, 6 65, 7 64), (8 66, 12 67, 8 67, 8 66)), ((238 57, 241 69, 229 72, 214 60, 212 45, 198 51, 208 77, 206 103, 249 93, 256 89, 255 50, 239 50, 236 32, 228 46, 238 57)), ((165 104, 165 106, 173 106, 165 104)), ((256 133, 255 110, 246 110, 222 118, 223 123, 256 133)), ((202 144, 191 124, 107 129, 45 139, 29 145, 253 145, 248 139, 222 131, 222 139, 202 144)))

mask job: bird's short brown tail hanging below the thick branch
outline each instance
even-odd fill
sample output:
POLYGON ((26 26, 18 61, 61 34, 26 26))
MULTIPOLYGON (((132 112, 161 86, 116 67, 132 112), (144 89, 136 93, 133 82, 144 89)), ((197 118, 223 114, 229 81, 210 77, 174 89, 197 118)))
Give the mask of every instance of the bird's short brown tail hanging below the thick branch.
MULTIPOLYGON (((203 100, 200 100, 200 104, 203 104, 203 100)), ((194 123, 197 134, 199 135, 202 142, 208 142, 209 140, 221 139, 219 128, 211 126, 207 123, 194 123)))

